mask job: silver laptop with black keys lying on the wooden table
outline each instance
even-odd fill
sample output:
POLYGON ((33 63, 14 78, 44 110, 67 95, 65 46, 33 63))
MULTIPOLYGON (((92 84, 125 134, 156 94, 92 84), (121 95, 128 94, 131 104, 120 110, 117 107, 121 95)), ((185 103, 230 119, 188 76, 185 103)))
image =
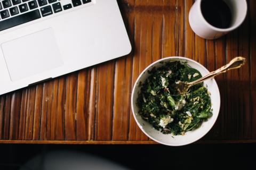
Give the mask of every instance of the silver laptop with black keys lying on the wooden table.
POLYGON ((0 95, 129 54, 116 0, 1 0, 0 95))

